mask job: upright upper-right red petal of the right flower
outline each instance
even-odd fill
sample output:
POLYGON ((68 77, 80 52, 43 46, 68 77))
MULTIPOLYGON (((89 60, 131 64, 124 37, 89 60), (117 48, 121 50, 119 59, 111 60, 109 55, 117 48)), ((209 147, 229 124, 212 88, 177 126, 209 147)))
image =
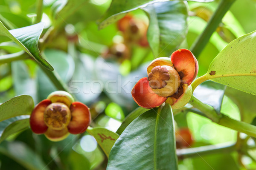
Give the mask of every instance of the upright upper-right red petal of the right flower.
POLYGON ((179 49, 172 53, 171 60, 177 72, 183 73, 183 77, 180 77, 182 82, 190 85, 198 74, 198 61, 195 56, 188 49, 179 49))

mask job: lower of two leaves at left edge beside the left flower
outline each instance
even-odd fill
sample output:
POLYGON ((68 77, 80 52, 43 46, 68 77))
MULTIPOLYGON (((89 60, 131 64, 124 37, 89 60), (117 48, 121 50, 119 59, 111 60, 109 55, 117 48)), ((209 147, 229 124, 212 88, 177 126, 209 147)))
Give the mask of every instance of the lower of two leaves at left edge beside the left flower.
POLYGON ((29 116, 17 116, 0 122, 0 142, 8 136, 29 127, 29 116))

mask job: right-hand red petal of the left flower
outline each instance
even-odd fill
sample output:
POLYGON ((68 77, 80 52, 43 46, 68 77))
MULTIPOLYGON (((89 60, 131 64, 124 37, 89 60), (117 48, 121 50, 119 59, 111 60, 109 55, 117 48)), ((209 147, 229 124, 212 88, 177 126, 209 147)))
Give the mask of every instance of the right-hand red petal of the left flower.
POLYGON ((67 126, 68 131, 72 134, 84 133, 91 121, 89 108, 81 102, 73 102, 70 111, 71 121, 67 126))

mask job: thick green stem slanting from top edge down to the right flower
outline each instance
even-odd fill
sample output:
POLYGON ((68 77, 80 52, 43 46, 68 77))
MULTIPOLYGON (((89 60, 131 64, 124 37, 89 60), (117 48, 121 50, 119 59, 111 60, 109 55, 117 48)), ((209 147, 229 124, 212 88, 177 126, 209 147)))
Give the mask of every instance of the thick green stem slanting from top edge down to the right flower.
POLYGON ((215 13, 212 15, 203 33, 198 37, 198 39, 195 41, 195 43, 191 47, 190 51, 195 56, 199 57, 201 51, 203 51, 205 45, 207 45, 213 32, 216 30, 222 18, 224 17, 224 15, 226 14, 226 12, 229 10, 230 6, 234 2, 235 0, 221 0, 221 2, 218 5, 218 8, 216 9, 215 13))

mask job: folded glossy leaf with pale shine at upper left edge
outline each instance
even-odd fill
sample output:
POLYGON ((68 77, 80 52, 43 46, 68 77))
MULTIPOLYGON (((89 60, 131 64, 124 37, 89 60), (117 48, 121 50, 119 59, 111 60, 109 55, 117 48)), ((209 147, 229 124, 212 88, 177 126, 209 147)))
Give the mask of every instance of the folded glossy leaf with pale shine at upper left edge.
POLYGON ((38 49, 38 41, 44 29, 44 23, 38 23, 32 26, 17 28, 8 31, 0 21, 0 34, 9 37, 15 43, 26 51, 37 62, 49 70, 53 70, 52 66, 41 56, 38 49))

